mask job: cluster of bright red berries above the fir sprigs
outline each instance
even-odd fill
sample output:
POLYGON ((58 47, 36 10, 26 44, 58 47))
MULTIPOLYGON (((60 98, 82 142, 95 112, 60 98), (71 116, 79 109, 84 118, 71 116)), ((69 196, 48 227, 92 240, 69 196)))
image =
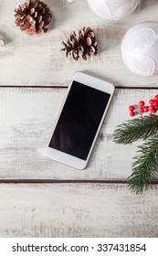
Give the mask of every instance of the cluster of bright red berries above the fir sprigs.
POLYGON ((129 106, 130 115, 134 116, 137 113, 142 114, 143 112, 155 113, 158 111, 158 94, 154 96, 154 99, 149 101, 149 106, 145 105, 144 101, 139 101, 138 109, 133 105, 129 106))

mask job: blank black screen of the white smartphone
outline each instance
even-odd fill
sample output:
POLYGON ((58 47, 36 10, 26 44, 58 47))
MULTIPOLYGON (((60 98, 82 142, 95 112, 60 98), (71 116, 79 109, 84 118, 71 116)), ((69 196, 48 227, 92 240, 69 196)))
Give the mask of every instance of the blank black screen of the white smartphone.
POLYGON ((73 81, 48 146, 86 160, 110 97, 73 81))

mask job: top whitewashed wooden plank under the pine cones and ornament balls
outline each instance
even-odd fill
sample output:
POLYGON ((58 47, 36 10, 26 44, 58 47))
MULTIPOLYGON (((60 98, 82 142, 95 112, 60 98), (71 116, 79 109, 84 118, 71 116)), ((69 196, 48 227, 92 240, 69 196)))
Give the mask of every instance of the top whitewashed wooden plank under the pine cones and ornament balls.
POLYGON ((1 1, 0 37, 5 40, 5 48, 0 48, 0 85, 67 86, 74 72, 84 70, 116 86, 156 87, 156 78, 139 77, 125 67, 121 39, 128 28, 151 20, 151 14, 157 20, 157 1, 143 1, 140 12, 136 10, 118 22, 96 16, 85 0, 72 4, 66 0, 45 2, 53 13, 52 26, 42 37, 29 37, 14 24, 17 1, 1 1), (71 31, 84 26, 96 32, 99 55, 88 61, 66 59, 61 52, 62 41, 71 31))

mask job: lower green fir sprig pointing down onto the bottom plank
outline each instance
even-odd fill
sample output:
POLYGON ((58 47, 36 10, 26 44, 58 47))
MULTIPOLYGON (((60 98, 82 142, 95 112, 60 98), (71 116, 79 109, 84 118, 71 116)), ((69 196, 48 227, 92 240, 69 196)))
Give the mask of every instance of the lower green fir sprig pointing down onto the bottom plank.
POLYGON ((139 155, 133 158, 135 162, 128 184, 133 192, 141 194, 149 187, 151 178, 158 174, 158 137, 148 139, 138 148, 139 155))

